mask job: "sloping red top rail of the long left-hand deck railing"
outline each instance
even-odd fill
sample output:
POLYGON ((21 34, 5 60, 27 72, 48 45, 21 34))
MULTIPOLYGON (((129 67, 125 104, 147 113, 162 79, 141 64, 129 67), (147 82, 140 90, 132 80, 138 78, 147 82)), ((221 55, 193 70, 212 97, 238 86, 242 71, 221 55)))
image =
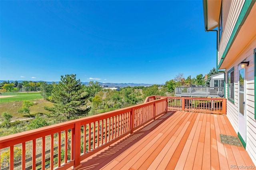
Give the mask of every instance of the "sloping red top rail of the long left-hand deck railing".
POLYGON ((148 106, 148 105, 151 105, 152 103, 155 103, 157 101, 160 102, 160 101, 163 101, 163 100, 166 100, 166 97, 165 97, 165 99, 158 99, 158 100, 155 100, 155 101, 149 101, 147 103, 142 103, 142 104, 139 104, 139 105, 126 107, 126 108, 118 109, 118 110, 115 110, 115 111, 109 111, 109 112, 106 112, 106 113, 101 113, 101 114, 98 114, 98 115, 92 115, 92 116, 89 116, 89 117, 75 119, 75 120, 72 120, 72 121, 66 121, 66 122, 63 122, 63 123, 58 123, 58 124, 50 125, 50 126, 47 126, 47 127, 28 130, 28 131, 25 131, 25 132, 20 132, 20 133, 17 133, 17 134, 11 134, 11 135, 8 135, 8 136, 2 136, 2 137, 0 137, 0 149, 2 148, 1 143, 6 143, 8 141, 12 141, 12 143, 17 143, 17 144, 21 143, 21 142, 26 142, 26 141, 32 140, 35 137, 40 138, 40 136, 47 136, 47 135, 50 135, 52 133, 58 132, 60 130, 63 131, 63 130, 66 130, 66 129, 74 128, 74 124, 78 123, 78 122, 80 122, 80 123, 92 123, 92 122, 95 122, 95 121, 98 121, 98 120, 106 119, 108 117, 113 117, 113 116, 116 116, 116 115, 120 115, 122 113, 130 112, 130 111, 132 111, 132 109, 138 109, 140 107, 148 106), (16 139, 20 139, 22 141, 14 142, 16 139))

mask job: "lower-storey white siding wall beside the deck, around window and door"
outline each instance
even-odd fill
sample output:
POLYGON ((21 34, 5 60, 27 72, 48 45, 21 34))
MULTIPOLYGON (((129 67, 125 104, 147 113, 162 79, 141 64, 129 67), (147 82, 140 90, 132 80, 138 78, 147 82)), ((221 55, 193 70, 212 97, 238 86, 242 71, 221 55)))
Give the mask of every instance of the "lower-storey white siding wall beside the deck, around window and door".
MULTIPOLYGON (((246 67, 246 150, 254 164, 256 164, 256 120, 254 119, 254 49, 256 48, 256 37, 250 44, 241 51, 238 58, 226 68, 227 72, 234 67, 234 103, 227 99, 227 117, 238 133, 238 64, 243 61, 250 61, 246 67)), ((226 89, 227 85, 226 85, 226 89)), ((226 97, 228 93, 226 90, 226 97)))

